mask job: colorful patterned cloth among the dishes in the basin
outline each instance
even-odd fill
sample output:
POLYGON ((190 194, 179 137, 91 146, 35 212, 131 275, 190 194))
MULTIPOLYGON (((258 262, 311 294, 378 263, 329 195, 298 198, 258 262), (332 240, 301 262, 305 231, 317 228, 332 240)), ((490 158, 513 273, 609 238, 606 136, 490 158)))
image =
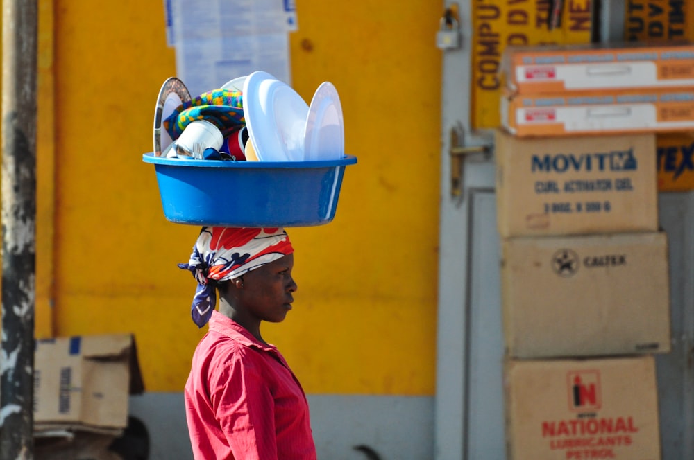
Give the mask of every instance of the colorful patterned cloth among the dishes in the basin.
POLYGON ((175 141, 185 127, 196 120, 209 121, 226 137, 239 125, 246 124, 242 92, 229 89, 207 91, 176 107, 162 126, 175 141))

